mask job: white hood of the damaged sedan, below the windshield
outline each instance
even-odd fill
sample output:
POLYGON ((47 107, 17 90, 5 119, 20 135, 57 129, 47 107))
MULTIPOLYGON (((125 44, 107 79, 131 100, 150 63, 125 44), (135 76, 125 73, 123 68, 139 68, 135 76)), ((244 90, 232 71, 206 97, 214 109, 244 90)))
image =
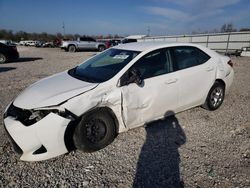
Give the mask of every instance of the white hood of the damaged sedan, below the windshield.
POLYGON ((13 104, 23 109, 54 106, 89 91, 97 85, 97 83, 78 80, 67 72, 62 72, 29 86, 14 100, 13 104))

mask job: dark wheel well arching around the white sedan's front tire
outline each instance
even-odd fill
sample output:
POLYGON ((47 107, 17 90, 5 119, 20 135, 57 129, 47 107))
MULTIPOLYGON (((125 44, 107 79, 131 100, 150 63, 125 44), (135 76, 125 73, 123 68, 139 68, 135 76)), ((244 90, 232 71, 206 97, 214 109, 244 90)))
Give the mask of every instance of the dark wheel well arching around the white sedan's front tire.
POLYGON ((116 129, 116 136, 117 136, 118 131, 119 131, 119 122, 118 122, 118 120, 116 118, 116 115, 113 112, 113 110, 110 109, 109 107, 94 108, 94 109, 82 114, 81 116, 77 117, 75 120, 71 121, 68 124, 68 126, 67 126, 67 128, 65 130, 65 133, 64 133, 64 143, 65 143, 65 146, 66 146, 68 151, 72 151, 72 150, 76 149, 76 147, 74 145, 74 141, 73 141, 73 135, 74 135, 74 131, 75 131, 76 126, 81 121, 81 118, 83 116, 87 116, 89 114, 95 113, 96 111, 99 111, 99 110, 106 111, 111 116, 111 118, 115 122, 115 129, 116 129))

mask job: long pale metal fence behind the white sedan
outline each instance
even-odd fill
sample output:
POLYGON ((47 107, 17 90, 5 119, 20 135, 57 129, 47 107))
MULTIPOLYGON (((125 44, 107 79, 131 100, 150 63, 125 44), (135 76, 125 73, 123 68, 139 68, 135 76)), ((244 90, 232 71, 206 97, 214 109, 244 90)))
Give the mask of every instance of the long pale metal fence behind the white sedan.
POLYGON ((145 37, 139 41, 191 42, 219 52, 228 52, 242 47, 250 47, 250 32, 155 36, 145 37))

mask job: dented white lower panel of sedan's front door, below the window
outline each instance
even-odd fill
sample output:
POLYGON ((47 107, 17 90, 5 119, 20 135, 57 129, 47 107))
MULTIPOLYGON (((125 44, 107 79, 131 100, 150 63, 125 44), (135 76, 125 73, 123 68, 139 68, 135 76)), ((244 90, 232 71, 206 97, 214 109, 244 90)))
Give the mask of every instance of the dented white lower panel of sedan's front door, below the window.
POLYGON ((176 111, 178 103, 177 73, 169 73, 121 87, 124 123, 129 128, 165 116, 167 111, 176 111), (169 80, 175 80, 168 83, 169 80))

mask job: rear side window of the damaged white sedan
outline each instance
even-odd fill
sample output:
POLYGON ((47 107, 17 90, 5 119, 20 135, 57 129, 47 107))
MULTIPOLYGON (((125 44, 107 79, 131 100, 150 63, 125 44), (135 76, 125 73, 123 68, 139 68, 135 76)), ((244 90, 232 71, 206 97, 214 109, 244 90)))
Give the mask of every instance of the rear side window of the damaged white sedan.
POLYGON ((203 64, 210 59, 209 55, 195 47, 175 47, 173 55, 178 70, 203 64))

